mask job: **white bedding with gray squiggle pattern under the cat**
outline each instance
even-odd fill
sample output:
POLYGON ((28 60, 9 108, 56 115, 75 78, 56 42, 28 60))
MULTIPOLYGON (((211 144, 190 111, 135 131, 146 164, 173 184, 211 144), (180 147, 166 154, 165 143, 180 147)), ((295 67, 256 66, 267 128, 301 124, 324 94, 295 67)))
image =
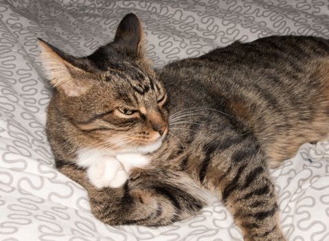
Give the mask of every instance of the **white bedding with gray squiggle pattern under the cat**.
MULTIPOLYGON (((0 240, 242 240, 223 205, 169 227, 110 227, 54 168, 45 136, 50 91, 36 37, 74 55, 113 39, 128 12, 144 23, 155 66, 273 34, 329 39, 329 3, 298 1, 0 0, 0 240)), ((329 142, 305 144, 272 170, 288 240, 329 240, 329 142)))

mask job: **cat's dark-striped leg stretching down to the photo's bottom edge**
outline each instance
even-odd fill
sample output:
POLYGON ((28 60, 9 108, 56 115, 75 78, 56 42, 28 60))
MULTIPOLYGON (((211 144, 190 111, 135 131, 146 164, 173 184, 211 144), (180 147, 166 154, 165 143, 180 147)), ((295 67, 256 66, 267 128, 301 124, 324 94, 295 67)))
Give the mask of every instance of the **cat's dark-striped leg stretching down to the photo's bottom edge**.
POLYGON ((266 156, 255 140, 235 138, 231 146, 205 146, 200 181, 222 198, 245 240, 284 241, 266 156))

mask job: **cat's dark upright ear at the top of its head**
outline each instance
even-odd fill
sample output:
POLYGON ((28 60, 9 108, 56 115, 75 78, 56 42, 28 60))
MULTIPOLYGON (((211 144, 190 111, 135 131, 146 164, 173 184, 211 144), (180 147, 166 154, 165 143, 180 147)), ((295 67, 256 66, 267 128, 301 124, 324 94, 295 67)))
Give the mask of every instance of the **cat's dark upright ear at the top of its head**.
POLYGON ((135 57, 142 54, 143 28, 137 16, 133 13, 127 14, 115 33, 113 43, 122 50, 132 54, 135 57))

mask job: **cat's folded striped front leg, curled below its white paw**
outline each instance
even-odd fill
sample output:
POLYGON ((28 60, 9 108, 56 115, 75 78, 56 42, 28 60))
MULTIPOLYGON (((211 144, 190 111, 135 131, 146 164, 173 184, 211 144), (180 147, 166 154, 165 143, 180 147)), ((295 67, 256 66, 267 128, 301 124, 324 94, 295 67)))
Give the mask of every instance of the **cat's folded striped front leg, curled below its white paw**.
POLYGON ((150 169, 146 176, 135 175, 139 178, 122 187, 99 189, 91 184, 85 169, 67 164, 59 170, 87 189, 93 215, 109 225, 168 225, 191 218, 206 204, 204 192, 190 185, 187 174, 175 172, 163 179, 161 171, 150 169))

